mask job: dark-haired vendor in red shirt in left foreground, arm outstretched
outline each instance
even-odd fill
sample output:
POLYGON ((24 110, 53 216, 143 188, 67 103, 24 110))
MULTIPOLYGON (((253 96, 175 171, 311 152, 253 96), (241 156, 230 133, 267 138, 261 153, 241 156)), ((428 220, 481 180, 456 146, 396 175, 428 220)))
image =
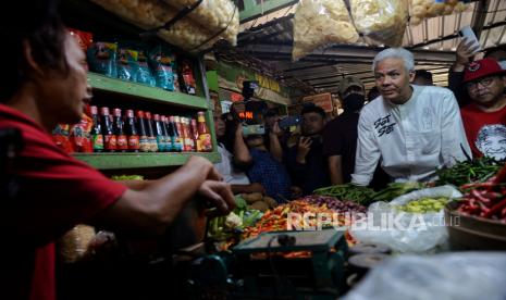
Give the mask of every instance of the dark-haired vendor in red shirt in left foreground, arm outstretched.
POLYGON ((17 193, 0 196, 2 299, 55 299, 53 241, 76 224, 162 234, 197 193, 223 212, 233 209, 230 186, 206 159, 128 186, 53 143, 51 129, 77 123, 91 97, 85 54, 54 1, 12 2, 2 10, 0 40, 0 130, 17 129, 23 143, 11 167, 17 193))

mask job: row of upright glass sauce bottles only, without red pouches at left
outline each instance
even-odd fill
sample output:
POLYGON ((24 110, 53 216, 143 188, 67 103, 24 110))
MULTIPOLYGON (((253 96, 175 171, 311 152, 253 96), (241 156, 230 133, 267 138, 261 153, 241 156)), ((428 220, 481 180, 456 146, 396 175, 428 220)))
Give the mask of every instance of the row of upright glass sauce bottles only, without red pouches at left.
POLYGON ((91 107, 94 152, 210 152, 211 135, 203 112, 197 120, 177 115, 91 107))

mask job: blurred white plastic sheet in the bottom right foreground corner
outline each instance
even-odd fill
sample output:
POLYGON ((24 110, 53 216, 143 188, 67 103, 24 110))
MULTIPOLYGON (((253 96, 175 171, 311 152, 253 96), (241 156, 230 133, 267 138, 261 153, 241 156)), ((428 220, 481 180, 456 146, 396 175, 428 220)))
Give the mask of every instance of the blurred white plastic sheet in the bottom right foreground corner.
POLYGON ((402 255, 373 268, 343 300, 503 300, 506 254, 402 255))

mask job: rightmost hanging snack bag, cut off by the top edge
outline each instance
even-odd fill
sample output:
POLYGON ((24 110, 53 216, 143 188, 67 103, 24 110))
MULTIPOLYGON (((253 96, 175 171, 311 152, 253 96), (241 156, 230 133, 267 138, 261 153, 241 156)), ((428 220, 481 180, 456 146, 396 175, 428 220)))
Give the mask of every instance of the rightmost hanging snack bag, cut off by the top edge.
POLYGON ((464 12, 469 7, 468 2, 458 0, 410 0, 409 24, 416 26, 429 17, 464 12))

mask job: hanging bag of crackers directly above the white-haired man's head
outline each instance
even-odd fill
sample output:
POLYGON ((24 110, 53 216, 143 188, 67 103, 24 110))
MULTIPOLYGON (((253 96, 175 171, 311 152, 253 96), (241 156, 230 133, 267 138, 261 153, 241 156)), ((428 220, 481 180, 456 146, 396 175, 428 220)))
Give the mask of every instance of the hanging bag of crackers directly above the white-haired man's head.
POLYGON ((350 0, 351 17, 360 34, 391 47, 403 43, 408 22, 405 0, 350 0))

